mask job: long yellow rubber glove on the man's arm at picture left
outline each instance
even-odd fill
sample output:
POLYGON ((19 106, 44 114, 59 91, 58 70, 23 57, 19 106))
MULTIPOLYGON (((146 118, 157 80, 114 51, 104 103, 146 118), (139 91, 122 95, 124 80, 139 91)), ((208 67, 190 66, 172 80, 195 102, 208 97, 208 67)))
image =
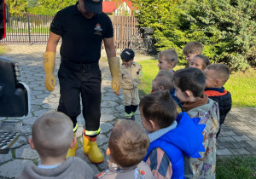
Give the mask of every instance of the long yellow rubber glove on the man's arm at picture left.
POLYGON ((52 91, 55 89, 56 79, 54 75, 55 69, 55 52, 45 52, 44 58, 44 86, 47 90, 52 91))

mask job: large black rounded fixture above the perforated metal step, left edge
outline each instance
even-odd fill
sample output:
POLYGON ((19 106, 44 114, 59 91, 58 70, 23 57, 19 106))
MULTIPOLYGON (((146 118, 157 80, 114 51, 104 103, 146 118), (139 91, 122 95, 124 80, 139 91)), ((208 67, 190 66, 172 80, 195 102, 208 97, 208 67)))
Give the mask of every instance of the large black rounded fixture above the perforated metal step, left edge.
POLYGON ((30 111, 29 88, 19 77, 18 63, 0 57, 0 117, 22 117, 30 111))

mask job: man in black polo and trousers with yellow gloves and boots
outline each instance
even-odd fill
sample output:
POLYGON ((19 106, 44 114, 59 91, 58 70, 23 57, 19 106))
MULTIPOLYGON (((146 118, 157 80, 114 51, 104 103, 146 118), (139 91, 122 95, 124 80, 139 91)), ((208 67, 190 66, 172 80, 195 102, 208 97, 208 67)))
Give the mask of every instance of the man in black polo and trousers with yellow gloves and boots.
MULTIPOLYGON (((119 91, 119 58, 113 43, 113 26, 107 14, 102 13, 102 0, 79 0, 75 5, 59 11, 53 19, 49 39, 44 53, 45 88, 55 89, 55 51, 61 43, 61 65, 58 71, 60 81, 60 102, 58 111, 73 120, 74 136, 82 97, 85 128, 83 131, 84 154, 93 163, 103 161, 96 144, 100 133, 101 84, 99 69, 102 40, 108 55, 112 74, 112 88, 119 91)), ((70 148, 67 157, 74 156, 78 145, 70 148)))

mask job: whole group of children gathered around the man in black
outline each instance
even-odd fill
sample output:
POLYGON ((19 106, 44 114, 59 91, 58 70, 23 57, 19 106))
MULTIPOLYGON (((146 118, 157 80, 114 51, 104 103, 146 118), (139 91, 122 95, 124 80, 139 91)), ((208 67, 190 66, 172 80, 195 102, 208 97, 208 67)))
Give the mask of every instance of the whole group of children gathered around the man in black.
POLYGON ((201 43, 188 43, 183 53, 189 65, 176 72, 175 50, 160 52, 152 93, 139 101, 142 66, 133 61, 134 52, 125 49, 120 82, 128 120, 115 124, 109 136, 108 170, 94 176, 83 160, 66 159, 76 143, 72 121, 49 112, 35 121, 29 140, 41 165, 27 165, 17 178, 215 178, 216 141, 231 108, 231 95, 223 87, 230 71, 224 64, 209 65, 201 52, 201 43), (134 121, 137 107, 144 129, 134 121))

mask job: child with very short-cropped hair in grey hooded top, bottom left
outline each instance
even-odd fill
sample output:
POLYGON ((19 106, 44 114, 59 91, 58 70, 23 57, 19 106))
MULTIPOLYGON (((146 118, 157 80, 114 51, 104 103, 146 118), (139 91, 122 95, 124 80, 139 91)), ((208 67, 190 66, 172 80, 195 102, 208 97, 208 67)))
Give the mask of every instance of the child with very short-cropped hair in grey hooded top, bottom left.
POLYGON ((67 151, 76 143, 73 122, 64 113, 48 112, 32 126, 29 144, 36 149, 41 165, 26 165, 17 179, 34 178, 93 178, 93 171, 82 159, 68 157, 67 151))

